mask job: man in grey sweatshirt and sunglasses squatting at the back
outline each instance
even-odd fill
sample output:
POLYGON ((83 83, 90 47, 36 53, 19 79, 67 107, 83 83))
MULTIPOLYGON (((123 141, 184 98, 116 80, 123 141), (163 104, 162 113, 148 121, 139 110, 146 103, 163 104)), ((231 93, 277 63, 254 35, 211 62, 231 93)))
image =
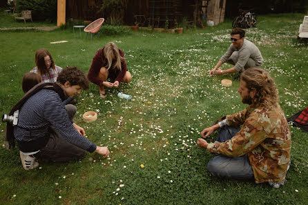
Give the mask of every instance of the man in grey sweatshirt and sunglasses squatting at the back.
POLYGON ((247 68, 259 68, 263 58, 258 47, 244 39, 245 31, 242 28, 234 28, 231 32, 231 45, 227 52, 220 58, 210 75, 223 75, 231 72, 243 72, 247 68), (234 65, 233 68, 222 70, 219 68, 225 62, 234 65))

